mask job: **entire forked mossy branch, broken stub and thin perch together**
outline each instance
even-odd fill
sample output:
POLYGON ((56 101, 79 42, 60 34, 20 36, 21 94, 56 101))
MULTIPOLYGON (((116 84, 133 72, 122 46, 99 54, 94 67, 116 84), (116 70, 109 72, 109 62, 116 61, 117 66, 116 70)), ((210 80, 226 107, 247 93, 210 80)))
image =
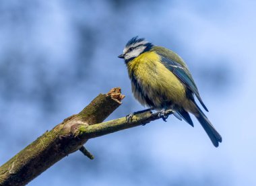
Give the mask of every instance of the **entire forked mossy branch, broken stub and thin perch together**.
MULTIPOLYGON (((144 125, 162 117, 146 111, 134 115, 130 122, 124 117, 101 123, 121 105, 124 97, 120 88, 111 89, 105 95, 98 95, 77 115, 66 118, 53 130, 42 134, 0 167, 0 185, 26 185, 68 154, 79 149, 85 152, 83 144, 88 139, 144 125)), ((171 110, 165 112, 166 115, 171 113, 171 110)))

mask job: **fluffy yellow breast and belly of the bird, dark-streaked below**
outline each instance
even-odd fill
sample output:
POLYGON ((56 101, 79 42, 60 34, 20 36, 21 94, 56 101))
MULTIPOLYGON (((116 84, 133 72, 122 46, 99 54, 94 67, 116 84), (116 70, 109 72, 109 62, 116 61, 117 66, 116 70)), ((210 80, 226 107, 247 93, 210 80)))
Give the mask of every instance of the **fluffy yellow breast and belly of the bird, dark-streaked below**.
POLYGON ((127 68, 133 95, 142 105, 163 108, 183 105, 186 101, 185 86, 160 62, 155 52, 139 55, 127 64, 127 68), (149 104, 148 99, 154 105, 149 104))

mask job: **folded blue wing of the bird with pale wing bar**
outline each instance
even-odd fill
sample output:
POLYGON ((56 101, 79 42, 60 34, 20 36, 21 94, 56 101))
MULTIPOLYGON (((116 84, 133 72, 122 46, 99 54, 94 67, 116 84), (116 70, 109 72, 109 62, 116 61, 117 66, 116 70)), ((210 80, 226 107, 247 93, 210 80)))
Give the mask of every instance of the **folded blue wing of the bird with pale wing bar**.
POLYGON ((197 97, 197 99, 199 100, 203 108, 206 111, 208 111, 207 107, 205 106, 205 104, 203 103, 199 95, 197 86, 195 85, 195 82, 193 81, 193 78, 189 73, 189 71, 187 70, 187 68, 185 68, 184 66, 181 66, 181 64, 179 64, 178 62, 175 62, 174 60, 171 60, 170 58, 166 58, 165 56, 162 56, 162 64, 164 64, 164 66, 168 68, 169 71, 171 71, 178 79, 181 80, 181 82, 189 90, 191 90, 195 94, 195 96, 197 97))

